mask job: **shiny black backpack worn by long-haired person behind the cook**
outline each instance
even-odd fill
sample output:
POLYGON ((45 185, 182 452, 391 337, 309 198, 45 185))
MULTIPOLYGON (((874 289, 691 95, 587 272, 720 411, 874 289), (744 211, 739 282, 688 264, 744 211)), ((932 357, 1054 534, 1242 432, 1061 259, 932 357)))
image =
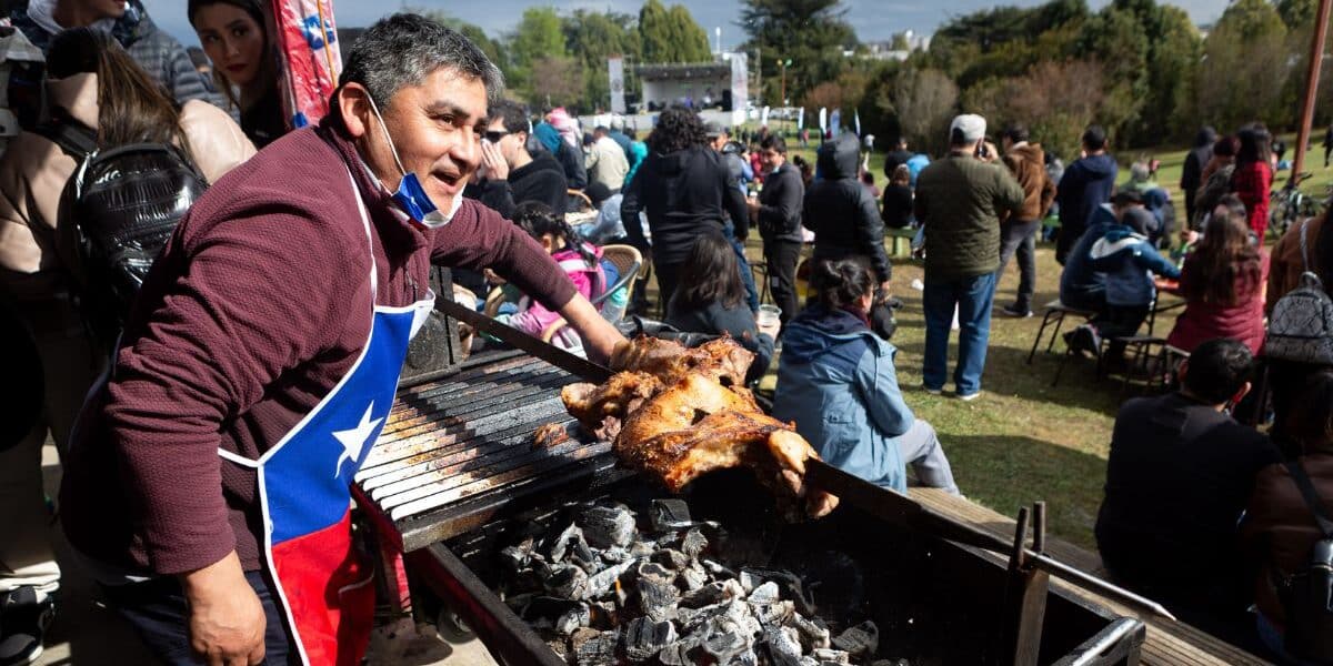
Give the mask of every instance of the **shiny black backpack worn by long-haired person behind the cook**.
POLYGON ((75 121, 39 133, 79 164, 61 196, 59 245, 81 312, 96 334, 115 338, 148 269, 208 181, 175 145, 101 151, 96 132, 75 121))

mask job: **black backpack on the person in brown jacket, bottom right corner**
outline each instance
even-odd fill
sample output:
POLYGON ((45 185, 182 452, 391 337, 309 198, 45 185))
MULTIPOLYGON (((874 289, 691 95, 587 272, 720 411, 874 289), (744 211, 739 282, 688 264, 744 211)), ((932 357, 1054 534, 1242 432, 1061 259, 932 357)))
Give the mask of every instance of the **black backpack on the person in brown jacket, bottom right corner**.
POLYGON ((1300 570, 1274 581, 1286 611, 1282 647, 1300 659, 1333 663, 1333 521, 1301 464, 1290 461, 1286 469, 1314 514, 1322 538, 1310 547, 1310 555, 1300 570))

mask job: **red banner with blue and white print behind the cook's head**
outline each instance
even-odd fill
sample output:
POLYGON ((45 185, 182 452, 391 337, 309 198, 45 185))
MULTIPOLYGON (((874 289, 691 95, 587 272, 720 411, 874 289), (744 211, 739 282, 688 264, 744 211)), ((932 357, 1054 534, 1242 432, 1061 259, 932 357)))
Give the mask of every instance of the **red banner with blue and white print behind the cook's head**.
POLYGON ((272 0, 283 56, 284 101, 292 129, 319 123, 343 72, 333 0, 272 0))

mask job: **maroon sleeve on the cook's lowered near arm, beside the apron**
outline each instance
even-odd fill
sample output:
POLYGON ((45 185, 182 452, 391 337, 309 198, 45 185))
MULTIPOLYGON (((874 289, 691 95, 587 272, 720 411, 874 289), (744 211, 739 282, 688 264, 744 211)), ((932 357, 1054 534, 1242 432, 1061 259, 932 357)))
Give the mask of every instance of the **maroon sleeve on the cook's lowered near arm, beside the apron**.
POLYGON ((232 216, 180 233, 159 260, 165 280, 141 293, 156 305, 120 350, 104 412, 153 571, 235 549, 219 432, 341 330, 369 268, 332 236, 292 212, 232 216))

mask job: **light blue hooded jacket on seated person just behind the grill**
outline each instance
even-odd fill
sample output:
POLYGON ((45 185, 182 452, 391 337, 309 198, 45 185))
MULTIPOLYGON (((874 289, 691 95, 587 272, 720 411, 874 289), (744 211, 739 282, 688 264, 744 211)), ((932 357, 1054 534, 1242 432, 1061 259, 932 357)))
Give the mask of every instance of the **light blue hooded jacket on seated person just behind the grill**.
POLYGON ((896 353, 860 317, 806 308, 782 332, 773 417, 794 421, 829 465, 905 493, 897 437, 916 416, 898 390, 896 353))

